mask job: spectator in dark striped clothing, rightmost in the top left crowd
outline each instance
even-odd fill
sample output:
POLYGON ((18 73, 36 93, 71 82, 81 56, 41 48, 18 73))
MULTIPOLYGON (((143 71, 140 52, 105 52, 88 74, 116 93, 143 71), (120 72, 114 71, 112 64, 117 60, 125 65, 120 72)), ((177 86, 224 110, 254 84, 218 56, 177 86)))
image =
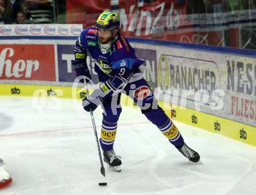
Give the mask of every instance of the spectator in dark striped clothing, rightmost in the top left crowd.
POLYGON ((30 17, 33 23, 52 23, 52 0, 27 0, 27 7, 30 10, 30 17))

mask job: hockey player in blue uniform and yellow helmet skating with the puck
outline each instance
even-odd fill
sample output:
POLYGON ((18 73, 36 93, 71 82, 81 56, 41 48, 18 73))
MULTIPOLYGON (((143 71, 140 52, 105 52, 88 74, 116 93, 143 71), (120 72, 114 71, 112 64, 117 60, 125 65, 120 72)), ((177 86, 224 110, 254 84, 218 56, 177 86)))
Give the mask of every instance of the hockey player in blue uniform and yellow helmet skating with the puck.
POLYGON ((99 78, 99 88, 83 101, 86 111, 94 111, 99 104, 104 106, 101 138, 104 161, 109 168, 120 171, 120 157, 113 150, 116 129, 118 127, 120 93, 125 92, 133 99, 141 112, 160 132, 168 138, 185 157, 196 163, 199 154, 184 143, 175 124, 158 106, 147 82, 143 78, 143 69, 147 64, 136 57, 134 49, 120 34, 119 15, 105 11, 99 15, 95 26, 84 29, 76 41, 72 65, 76 76, 91 78, 86 64, 90 55, 95 63, 95 72, 99 78))

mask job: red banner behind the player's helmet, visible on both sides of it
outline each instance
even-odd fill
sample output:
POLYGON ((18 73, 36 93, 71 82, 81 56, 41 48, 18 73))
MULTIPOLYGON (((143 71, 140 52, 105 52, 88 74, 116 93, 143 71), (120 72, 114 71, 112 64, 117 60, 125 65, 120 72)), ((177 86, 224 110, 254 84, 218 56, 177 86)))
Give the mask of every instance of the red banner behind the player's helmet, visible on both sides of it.
MULTIPOLYGON (((67 23, 82 23, 84 28, 93 26, 105 9, 111 8, 111 1, 74 0, 66 1, 67 23)), ((183 28, 188 1, 156 0, 138 2, 119 0, 116 12, 120 15, 122 34, 127 37, 156 38, 179 41, 176 30, 183 28)), ((191 37, 193 30, 186 32, 191 37)))

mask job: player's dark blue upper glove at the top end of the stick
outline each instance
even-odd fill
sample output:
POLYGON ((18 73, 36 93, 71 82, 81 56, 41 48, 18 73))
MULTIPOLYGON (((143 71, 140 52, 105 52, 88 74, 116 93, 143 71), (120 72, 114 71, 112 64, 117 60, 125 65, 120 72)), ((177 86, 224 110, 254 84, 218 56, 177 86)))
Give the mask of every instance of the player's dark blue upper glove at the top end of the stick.
MULTIPOLYGON (((88 70, 86 62, 84 60, 71 60, 71 64, 74 67, 76 77, 85 76, 87 78, 90 78, 91 80, 90 71, 88 70)), ((86 80, 86 82, 88 81, 89 80, 86 80)), ((80 80, 80 82, 84 82, 84 80, 80 80)))

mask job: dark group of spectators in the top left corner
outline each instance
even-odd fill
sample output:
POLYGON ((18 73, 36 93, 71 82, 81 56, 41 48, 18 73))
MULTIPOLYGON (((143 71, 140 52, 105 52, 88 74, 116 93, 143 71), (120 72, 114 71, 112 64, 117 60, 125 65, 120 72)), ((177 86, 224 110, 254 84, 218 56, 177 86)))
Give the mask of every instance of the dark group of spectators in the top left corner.
POLYGON ((0 0, 0 24, 52 23, 52 0, 0 0))

